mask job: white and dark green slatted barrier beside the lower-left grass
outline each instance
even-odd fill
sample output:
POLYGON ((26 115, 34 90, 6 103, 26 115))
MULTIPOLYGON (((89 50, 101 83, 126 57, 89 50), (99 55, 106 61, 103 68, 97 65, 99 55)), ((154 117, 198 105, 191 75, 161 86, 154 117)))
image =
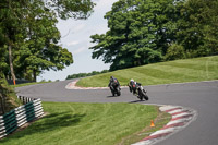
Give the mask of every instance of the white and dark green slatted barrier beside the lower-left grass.
POLYGON ((44 114, 40 99, 26 99, 25 97, 19 98, 22 98, 25 105, 20 106, 3 116, 0 116, 0 138, 14 132, 26 122, 31 122, 32 120, 44 114))

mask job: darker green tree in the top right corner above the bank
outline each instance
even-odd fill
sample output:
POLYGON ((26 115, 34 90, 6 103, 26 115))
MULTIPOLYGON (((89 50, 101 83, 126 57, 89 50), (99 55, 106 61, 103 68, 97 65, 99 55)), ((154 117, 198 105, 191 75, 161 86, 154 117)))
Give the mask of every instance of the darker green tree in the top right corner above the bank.
POLYGON ((217 55, 217 0, 187 0, 180 8, 177 40, 191 57, 217 55))

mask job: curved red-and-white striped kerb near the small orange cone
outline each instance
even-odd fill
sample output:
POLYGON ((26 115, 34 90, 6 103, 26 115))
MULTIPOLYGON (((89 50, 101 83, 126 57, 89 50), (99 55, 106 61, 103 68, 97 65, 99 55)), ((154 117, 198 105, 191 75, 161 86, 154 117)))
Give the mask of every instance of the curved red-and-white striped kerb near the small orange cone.
POLYGON ((133 145, 150 145, 160 142, 187 126, 197 117, 197 112, 195 110, 184 107, 161 106, 159 110, 171 114, 170 122, 168 122, 159 131, 152 133, 149 136, 133 145))

